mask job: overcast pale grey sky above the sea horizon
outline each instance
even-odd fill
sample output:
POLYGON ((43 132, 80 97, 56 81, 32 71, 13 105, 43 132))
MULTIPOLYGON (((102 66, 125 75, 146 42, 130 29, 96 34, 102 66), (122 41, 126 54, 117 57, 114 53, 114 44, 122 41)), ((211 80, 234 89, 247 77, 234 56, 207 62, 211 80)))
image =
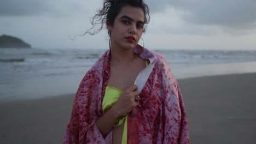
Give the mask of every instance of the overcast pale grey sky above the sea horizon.
MULTIPOLYGON (((255 0, 145 0, 149 49, 256 50, 255 0)), ((107 32, 83 34, 102 1, 1 0, 0 35, 42 49, 108 49, 107 32)))

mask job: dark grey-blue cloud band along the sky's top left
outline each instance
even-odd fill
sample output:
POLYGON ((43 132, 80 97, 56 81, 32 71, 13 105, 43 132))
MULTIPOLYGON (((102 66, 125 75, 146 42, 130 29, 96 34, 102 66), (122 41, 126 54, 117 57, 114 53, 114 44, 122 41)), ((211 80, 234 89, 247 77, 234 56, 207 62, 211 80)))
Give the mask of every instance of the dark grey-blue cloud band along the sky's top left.
POLYGON ((85 1, 68 0, 3 0, 0 16, 65 16, 86 10, 85 1))

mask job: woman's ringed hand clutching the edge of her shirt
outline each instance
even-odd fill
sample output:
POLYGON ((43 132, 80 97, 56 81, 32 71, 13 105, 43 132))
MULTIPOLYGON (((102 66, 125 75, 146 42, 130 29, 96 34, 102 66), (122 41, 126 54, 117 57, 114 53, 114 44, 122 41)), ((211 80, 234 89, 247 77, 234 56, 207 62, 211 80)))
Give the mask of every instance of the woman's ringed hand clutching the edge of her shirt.
POLYGON ((127 88, 123 94, 120 95, 117 103, 113 106, 114 110, 119 113, 119 115, 124 115, 125 113, 129 113, 134 109, 138 103, 135 101, 135 96, 139 94, 137 91, 137 86, 132 85, 127 88))

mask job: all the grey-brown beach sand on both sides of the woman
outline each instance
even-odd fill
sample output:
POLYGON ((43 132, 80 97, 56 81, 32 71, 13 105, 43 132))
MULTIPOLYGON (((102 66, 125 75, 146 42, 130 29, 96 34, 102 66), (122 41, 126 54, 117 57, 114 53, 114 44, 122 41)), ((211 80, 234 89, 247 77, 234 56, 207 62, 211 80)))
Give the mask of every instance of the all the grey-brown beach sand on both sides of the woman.
MULTIPOLYGON (((178 80, 190 143, 255 143, 256 73, 178 80)), ((62 143, 74 94, 0 103, 0 143, 62 143)))

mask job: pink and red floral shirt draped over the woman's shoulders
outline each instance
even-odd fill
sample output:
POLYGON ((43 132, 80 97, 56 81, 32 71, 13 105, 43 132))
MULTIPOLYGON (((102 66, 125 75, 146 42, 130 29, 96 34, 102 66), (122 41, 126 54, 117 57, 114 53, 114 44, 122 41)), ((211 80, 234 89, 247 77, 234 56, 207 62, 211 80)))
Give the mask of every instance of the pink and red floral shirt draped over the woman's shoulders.
MULTIPOLYGON (((133 52, 154 67, 139 94, 137 109, 128 113, 127 143, 189 143, 188 121, 178 83, 166 59, 141 46, 133 52)), ((104 138, 95 121, 102 116, 102 100, 109 77, 110 51, 86 73, 74 99, 63 143, 112 143, 112 131, 104 138)))

